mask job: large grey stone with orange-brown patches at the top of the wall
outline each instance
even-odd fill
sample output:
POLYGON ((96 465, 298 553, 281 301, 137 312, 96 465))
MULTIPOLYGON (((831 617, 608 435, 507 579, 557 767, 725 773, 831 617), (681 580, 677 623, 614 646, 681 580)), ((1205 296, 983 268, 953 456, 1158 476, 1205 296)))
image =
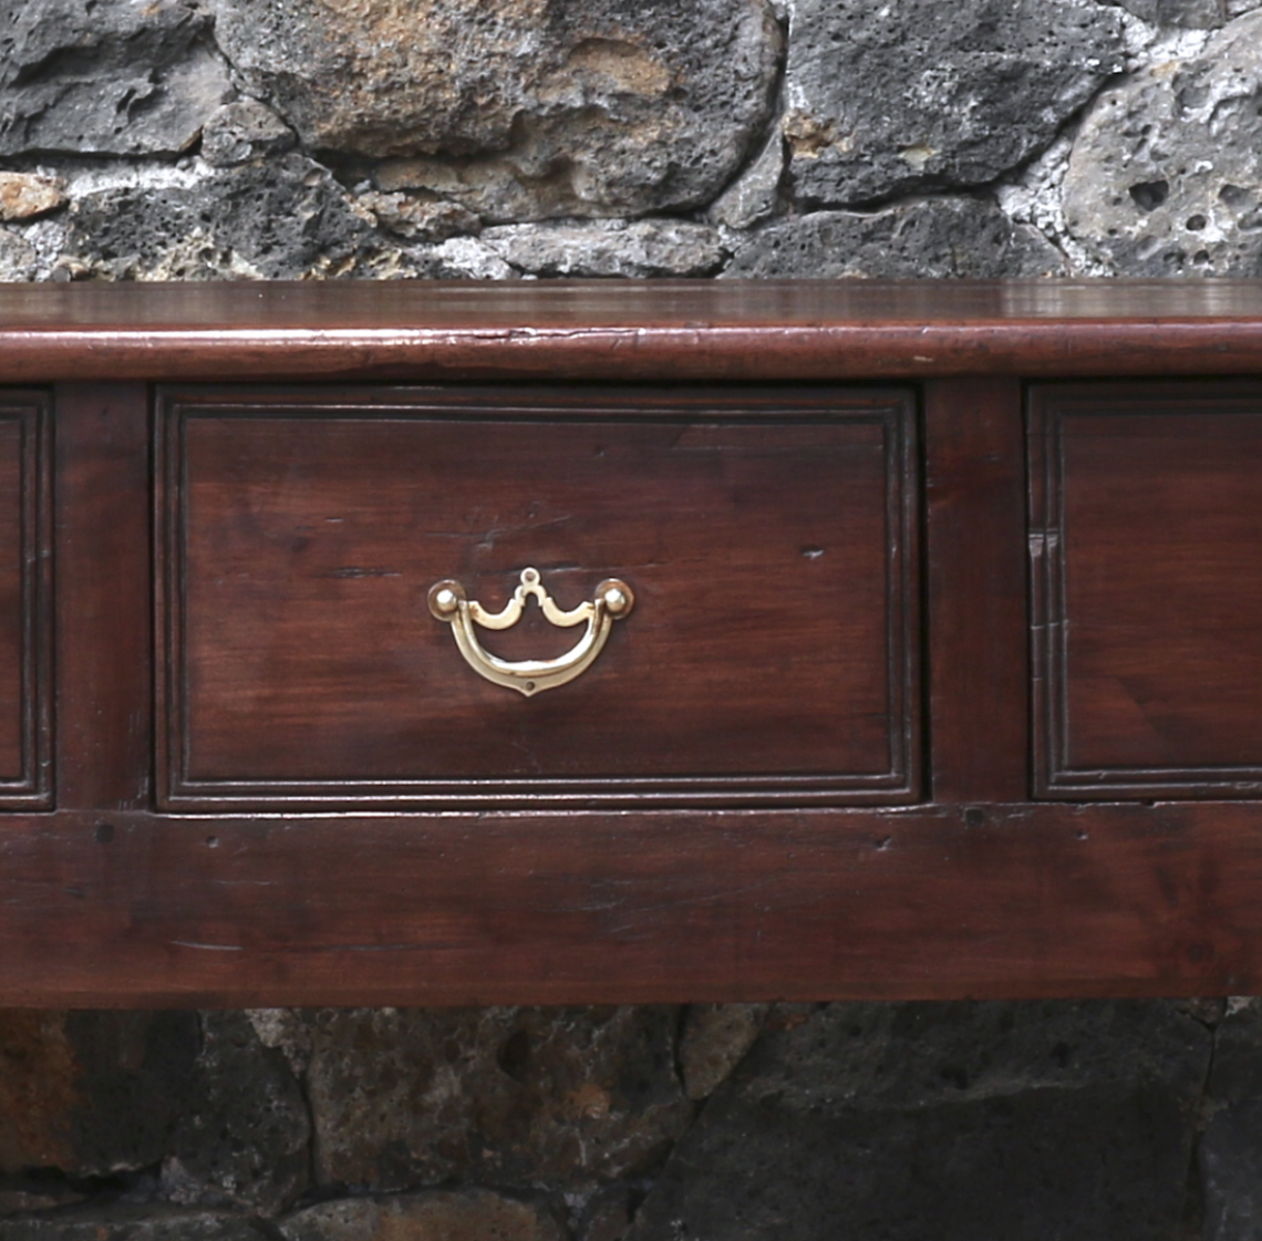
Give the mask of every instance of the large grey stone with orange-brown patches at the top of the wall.
POLYGON ((703 205, 769 119, 780 48, 765 0, 213 6, 250 93, 309 148, 443 157, 380 188, 493 222, 703 205))

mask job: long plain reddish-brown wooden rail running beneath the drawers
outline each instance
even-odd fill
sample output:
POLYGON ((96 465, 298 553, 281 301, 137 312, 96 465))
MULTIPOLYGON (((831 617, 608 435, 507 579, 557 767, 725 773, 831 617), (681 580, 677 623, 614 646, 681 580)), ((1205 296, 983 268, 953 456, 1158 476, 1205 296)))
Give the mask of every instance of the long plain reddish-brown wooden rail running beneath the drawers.
POLYGON ((1256 807, 0 821, 8 1005, 1251 995, 1256 807))

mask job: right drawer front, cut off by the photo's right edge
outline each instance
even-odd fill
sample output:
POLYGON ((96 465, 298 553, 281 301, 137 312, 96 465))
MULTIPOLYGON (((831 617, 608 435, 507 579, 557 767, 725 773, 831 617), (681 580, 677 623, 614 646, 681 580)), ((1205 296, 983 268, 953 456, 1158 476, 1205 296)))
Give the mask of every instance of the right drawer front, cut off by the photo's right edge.
POLYGON ((1262 792, 1262 384, 1031 399, 1036 793, 1262 792))

